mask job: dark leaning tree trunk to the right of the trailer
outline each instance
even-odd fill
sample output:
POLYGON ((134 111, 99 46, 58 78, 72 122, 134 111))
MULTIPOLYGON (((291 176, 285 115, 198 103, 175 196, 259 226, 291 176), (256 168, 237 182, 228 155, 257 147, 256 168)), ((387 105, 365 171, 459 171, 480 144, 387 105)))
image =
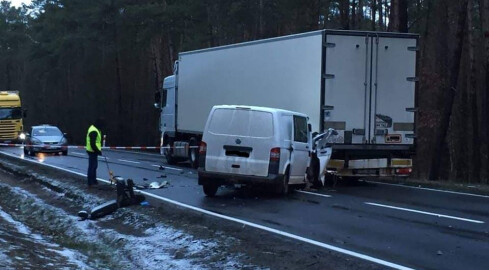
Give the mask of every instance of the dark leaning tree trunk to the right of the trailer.
POLYGON ((460 7, 459 7, 457 34, 455 37, 456 47, 453 55, 454 61, 450 70, 449 89, 446 90, 447 97, 445 98, 443 112, 440 119, 440 127, 435 139, 435 145, 433 149, 434 155, 433 155, 433 160, 431 162, 431 169, 430 169, 430 176, 429 176, 430 180, 438 180, 440 177, 440 169, 441 169, 440 165, 441 165, 441 158, 442 158, 442 155, 440 155, 440 153, 443 149, 443 146, 447 138, 448 128, 452 117, 455 91, 457 91, 460 63, 462 61, 462 48, 463 48, 464 34, 466 29, 465 24, 467 21, 467 4, 468 4, 468 0, 461 0, 460 7))

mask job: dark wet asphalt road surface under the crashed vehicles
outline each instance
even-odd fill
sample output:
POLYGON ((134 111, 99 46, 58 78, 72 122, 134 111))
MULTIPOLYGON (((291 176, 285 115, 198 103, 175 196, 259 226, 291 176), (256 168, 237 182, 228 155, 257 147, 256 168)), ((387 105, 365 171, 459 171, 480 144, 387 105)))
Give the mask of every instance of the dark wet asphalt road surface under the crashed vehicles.
MULTIPOLYGON (((0 152, 23 157, 20 148, 0 152)), ((221 188, 216 198, 207 198, 197 185, 196 170, 186 164, 168 166, 156 154, 104 154, 116 175, 137 184, 169 181, 167 188, 146 191, 197 208, 398 266, 489 269, 487 196, 358 182, 335 190, 294 192, 286 198, 262 190, 221 188)), ((23 158, 83 174, 88 163, 82 150, 70 150, 68 156, 23 158)), ((108 179, 103 158, 98 177, 108 179)))

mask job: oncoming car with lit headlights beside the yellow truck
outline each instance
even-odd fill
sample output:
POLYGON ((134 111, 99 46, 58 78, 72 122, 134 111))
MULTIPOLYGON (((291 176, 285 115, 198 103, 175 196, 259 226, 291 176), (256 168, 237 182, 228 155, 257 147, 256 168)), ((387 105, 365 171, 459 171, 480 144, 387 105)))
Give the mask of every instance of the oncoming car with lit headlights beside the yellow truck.
POLYGON ((68 155, 68 140, 59 128, 50 125, 33 126, 30 133, 26 134, 24 154, 34 156, 36 153, 62 152, 68 155))

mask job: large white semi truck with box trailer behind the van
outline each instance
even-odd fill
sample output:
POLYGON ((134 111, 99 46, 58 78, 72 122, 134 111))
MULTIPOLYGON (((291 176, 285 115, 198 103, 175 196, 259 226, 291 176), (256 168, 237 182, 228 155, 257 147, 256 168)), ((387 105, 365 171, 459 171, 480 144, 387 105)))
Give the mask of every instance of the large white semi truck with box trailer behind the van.
POLYGON ((162 154, 198 166, 214 105, 281 108, 338 132, 326 169, 407 175, 416 119, 418 35, 321 30, 182 52, 157 95, 162 154), (168 148, 169 147, 169 148, 168 148))

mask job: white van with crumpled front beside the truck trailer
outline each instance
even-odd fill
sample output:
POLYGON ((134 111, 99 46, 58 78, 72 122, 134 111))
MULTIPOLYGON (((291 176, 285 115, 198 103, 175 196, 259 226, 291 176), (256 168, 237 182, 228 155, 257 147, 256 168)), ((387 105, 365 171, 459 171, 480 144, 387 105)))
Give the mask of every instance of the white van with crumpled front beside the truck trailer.
POLYGON ((310 149, 305 114, 214 106, 199 149, 199 185, 211 197, 227 184, 269 185, 286 194, 289 185, 305 185, 310 149))

